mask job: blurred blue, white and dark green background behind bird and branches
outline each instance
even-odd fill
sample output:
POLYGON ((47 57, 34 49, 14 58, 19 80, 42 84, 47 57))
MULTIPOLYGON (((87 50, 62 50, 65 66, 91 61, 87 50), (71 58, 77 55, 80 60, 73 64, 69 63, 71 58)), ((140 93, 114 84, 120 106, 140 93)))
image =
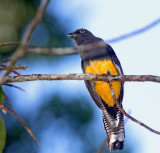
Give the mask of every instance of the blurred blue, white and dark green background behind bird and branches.
MULTIPOLYGON (((21 39, 39 3, 39 0, 0 0, 0 43, 21 39)), ((160 76, 159 6, 159 0, 51 0, 29 45, 48 48, 74 46, 66 34, 77 28, 86 28, 110 43, 125 74, 160 76), (145 30, 136 31, 143 27, 145 30), (132 32, 132 37, 114 41, 132 32)), ((0 47, 0 60, 8 59, 16 47, 0 47)), ((21 74, 82 73, 79 55, 26 54, 17 64, 28 66, 27 70, 19 71, 21 74)), ((33 81, 14 85, 26 92, 6 86, 3 90, 17 114, 29 124, 40 147, 35 146, 15 117, 1 113, 7 130, 4 153, 98 151, 106 137, 102 114, 83 81, 33 81)), ((133 117, 160 131, 159 91, 160 86, 156 83, 127 82, 123 106, 133 117)), ((151 153, 159 150, 159 135, 130 120, 126 120, 125 129, 125 148, 119 152, 151 153)))

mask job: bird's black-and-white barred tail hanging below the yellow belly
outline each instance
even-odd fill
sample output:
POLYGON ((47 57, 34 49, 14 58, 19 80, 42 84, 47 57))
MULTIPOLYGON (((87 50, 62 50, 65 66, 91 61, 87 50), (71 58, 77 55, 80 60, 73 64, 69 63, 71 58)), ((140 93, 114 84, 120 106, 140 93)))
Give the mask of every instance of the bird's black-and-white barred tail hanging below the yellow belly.
POLYGON ((108 151, 122 150, 124 145, 124 117, 118 110, 115 118, 103 112, 103 123, 107 133, 108 151))

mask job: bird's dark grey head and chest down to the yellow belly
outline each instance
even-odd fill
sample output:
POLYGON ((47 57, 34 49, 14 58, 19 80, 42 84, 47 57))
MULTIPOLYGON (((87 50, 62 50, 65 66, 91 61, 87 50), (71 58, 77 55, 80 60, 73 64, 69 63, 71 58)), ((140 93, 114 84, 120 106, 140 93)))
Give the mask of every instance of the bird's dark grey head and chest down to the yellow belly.
POLYGON ((77 29, 67 36, 75 41, 83 60, 104 57, 106 55, 107 44, 86 29, 77 29))

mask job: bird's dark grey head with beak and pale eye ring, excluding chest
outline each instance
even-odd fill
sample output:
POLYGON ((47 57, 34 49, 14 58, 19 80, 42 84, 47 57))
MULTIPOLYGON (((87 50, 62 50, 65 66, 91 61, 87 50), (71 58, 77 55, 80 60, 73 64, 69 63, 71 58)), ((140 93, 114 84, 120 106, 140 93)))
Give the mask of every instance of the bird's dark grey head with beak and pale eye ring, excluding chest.
POLYGON ((90 31, 87 29, 77 29, 76 31, 69 33, 67 36, 74 39, 77 46, 79 45, 85 45, 89 43, 93 43, 95 41, 100 41, 102 39, 95 37, 90 31))

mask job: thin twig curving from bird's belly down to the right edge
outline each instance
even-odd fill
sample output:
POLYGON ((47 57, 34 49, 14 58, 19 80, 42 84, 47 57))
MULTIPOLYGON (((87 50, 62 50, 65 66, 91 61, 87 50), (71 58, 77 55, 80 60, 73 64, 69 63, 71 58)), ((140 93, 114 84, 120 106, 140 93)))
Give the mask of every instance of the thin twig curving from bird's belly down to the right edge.
POLYGON ((143 126, 143 127, 146 128, 147 130, 149 130, 149 131, 151 131, 151 132, 153 132, 153 133, 155 133, 155 134, 160 135, 160 132, 159 132, 159 131, 156 131, 156 130, 150 128, 150 127, 147 126, 146 124, 138 121, 137 119, 133 118, 133 117, 130 116, 128 113, 126 113, 126 111, 120 106, 120 104, 118 103, 118 101, 117 101, 117 99, 116 99, 116 96, 115 96, 115 94, 114 94, 113 86, 112 86, 112 82, 111 82, 111 81, 109 82, 109 86, 110 86, 110 89, 111 89, 111 95, 112 95, 112 97, 113 97, 113 99, 114 99, 114 102, 115 102, 117 108, 123 113, 124 116, 128 117, 128 118, 129 118, 130 120, 132 120, 133 122, 136 122, 137 124, 143 126))

